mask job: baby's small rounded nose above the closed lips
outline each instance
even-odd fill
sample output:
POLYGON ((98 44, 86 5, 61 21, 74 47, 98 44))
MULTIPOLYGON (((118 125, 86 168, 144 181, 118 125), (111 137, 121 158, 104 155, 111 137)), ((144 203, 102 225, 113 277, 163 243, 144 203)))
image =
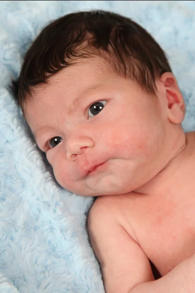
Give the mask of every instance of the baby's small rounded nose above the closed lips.
POLYGON ((85 148, 94 146, 95 142, 90 137, 69 138, 66 142, 66 157, 69 161, 75 161, 85 148))

